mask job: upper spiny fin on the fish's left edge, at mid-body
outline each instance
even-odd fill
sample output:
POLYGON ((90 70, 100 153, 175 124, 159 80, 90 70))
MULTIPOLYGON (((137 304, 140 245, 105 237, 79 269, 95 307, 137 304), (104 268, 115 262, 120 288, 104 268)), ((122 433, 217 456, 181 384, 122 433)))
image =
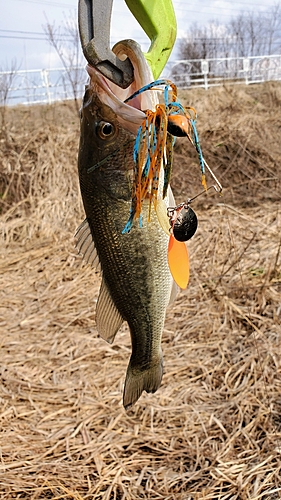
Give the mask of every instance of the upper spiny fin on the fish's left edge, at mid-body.
POLYGON ((82 224, 80 224, 80 226, 76 230, 74 238, 76 240, 75 247, 77 248, 78 253, 82 255, 85 262, 87 264, 90 264, 97 271, 101 271, 98 253, 87 219, 85 219, 82 224))

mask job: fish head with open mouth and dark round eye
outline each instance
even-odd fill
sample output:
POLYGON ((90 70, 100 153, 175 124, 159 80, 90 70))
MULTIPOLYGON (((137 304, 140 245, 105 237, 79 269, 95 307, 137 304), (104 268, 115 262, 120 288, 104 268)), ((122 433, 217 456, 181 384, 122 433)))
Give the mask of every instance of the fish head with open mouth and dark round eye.
MULTIPOLYGON (((133 169, 133 143, 138 128, 145 119, 144 111, 155 108, 157 103, 156 93, 151 91, 131 99, 128 104, 124 102, 153 78, 136 42, 119 42, 113 50, 121 59, 130 58, 135 79, 127 89, 122 89, 105 78, 96 68, 87 66, 90 78, 81 108, 79 170, 87 166, 87 169, 92 168, 94 171, 101 164, 104 165, 107 159, 110 162, 112 155, 116 155, 116 150, 124 149, 126 152, 128 148, 132 159, 129 168, 133 169)), ((126 167, 128 168, 128 165, 126 167)))

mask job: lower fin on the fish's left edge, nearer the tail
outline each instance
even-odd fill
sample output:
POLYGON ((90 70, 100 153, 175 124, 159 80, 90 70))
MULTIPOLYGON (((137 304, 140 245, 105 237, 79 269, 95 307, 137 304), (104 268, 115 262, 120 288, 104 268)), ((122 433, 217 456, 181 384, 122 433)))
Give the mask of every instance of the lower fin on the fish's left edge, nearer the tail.
POLYGON ((96 323, 100 336, 112 344, 116 333, 123 323, 123 318, 115 306, 109 290, 102 280, 96 308, 96 323))

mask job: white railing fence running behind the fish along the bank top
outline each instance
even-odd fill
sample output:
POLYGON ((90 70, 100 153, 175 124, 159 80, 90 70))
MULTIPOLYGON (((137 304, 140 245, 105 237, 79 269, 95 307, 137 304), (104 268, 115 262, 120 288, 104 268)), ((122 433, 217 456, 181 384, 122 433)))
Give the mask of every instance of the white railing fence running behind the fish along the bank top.
MULTIPOLYGON (((50 104, 73 99, 74 92, 82 97, 87 80, 85 69, 77 67, 69 71, 71 79, 63 68, 16 71, 12 76, 9 72, 0 72, 0 104, 50 104), (11 82, 8 89, 7 82, 11 82)), ((281 55, 178 60, 167 64, 164 76, 179 88, 206 90, 225 82, 251 84, 281 80, 281 55)))

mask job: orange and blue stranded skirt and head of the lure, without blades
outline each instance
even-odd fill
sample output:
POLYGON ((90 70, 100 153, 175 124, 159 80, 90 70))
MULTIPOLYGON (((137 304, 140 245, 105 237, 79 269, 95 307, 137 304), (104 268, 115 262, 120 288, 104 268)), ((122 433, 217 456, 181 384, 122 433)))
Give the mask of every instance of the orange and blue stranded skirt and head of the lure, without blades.
POLYGON ((196 148, 205 189, 205 167, 196 130, 197 114, 194 108, 184 107, 177 101, 177 87, 169 80, 156 80, 128 97, 130 101, 147 90, 159 90, 164 86, 164 104, 157 104, 155 111, 146 110, 145 119, 138 129, 134 145, 134 182, 130 216, 122 233, 128 233, 134 220, 142 227, 142 203, 149 199, 149 218, 151 207, 156 209, 159 198, 159 181, 163 168, 162 198, 167 194, 172 173, 173 146, 178 136, 187 136, 196 148))

